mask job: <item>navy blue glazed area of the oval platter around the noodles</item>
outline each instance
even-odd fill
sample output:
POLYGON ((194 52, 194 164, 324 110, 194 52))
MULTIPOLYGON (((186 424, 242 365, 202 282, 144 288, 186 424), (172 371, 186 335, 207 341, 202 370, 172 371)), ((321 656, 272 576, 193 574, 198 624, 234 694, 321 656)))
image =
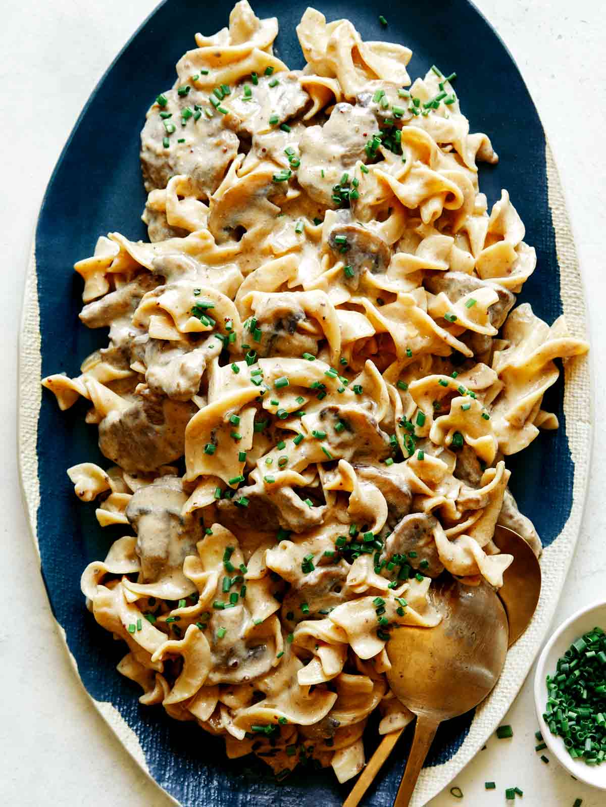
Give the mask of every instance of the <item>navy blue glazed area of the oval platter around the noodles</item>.
MULTIPOLYGON (((276 52, 292 68, 304 64, 295 26, 306 5, 295 0, 253 2, 259 17, 278 16, 276 52)), ((322 0, 317 7, 328 20, 351 19, 365 40, 384 39, 412 48, 413 78, 432 64, 446 73, 457 72, 457 91, 470 131, 487 132, 499 153, 498 165, 480 169, 481 189, 489 206, 499 199, 501 188, 509 190, 526 225, 525 240, 537 249, 537 271, 519 300, 532 303, 538 316, 553 322, 562 313, 562 303, 547 194, 545 135, 525 83, 495 31, 468 0, 408 0, 383 7, 362 0, 322 0), (387 17, 387 27, 379 23, 379 13, 387 17)), ((167 0, 136 31, 82 111, 48 185, 36 232, 43 376, 61 371, 78 374, 81 359, 106 341, 104 333, 89 331, 78 320, 81 278, 73 273, 73 263, 91 255, 97 237, 107 232, 119 230, 131 239, 147 239, 140 221, 145 194, 139 167, 145 112, 159 92, 173 85, 174 65, 194 47, 195 32, 211 34, 224 27, 231 8, 231 0, 210 5, 167 0)), ((560 429, 541 433, 523 454, 511 458, 510 467, 520 510, 534 521, 546 546, 560 534, 573 501, 574 465, 566 438, 562 380, 545 396, 545 408, 556 412, 560 429), (546 465, 559 469, 550 487, 542 483, 546 465)), ((102 530, 94 505, 77 500, 65 475, 65 469, 77 462, 108 465, 98 451, 97 429, 84 423, 84 411, 84 403, 78 403, 69 412, 60 412, 53 396, 44 391, 38 422, 36 529, 52 611, 65 629, 90 696, 119 710, 139 738, 151 775, 185 807, 340 805, 351 782, 338 784, 330 770, 303 769, 280 784, 270 768, 253 757, 230 761, 221 738, 211 737, 195 723, 173 721, 161 708, 141 706, 136 684, 115 671, 123 646, 86 611, 80 575, 87 563, 105 556, 123 528, 102 530)), ((473 717, 468 713, 441 726, 426 765, 443 765, 453 757, 473 717)), ((375 729, 376 722, 370 721, 367 757, 377 744, 375 729)), ((409 742, 405 738, 402 753, 386 763, 364 804, 391 804, 409 742)))

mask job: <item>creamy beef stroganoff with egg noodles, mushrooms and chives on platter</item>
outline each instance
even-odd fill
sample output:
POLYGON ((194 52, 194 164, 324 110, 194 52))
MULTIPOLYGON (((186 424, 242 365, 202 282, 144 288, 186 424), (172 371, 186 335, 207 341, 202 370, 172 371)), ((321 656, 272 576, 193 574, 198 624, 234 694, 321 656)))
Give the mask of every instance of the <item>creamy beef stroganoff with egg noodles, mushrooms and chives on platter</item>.
POLYGON ((149 241, 75 266, 109 345, 43 383, 115 463, 68 474, 131 533, 81 587, 140 702, 344 782, 374 709, 412 720, 386 644, 437 625, 432 580, 499 587, 497 524, 540 553, 505 458, 558 428, 554 359, 587 344, 515 307, 535 251, 506 190, 488 211, 454 73, 411 86, 407 48, 311 8, 292 71, 277 33, 242 0, 178 61, 141 133, 149 241))

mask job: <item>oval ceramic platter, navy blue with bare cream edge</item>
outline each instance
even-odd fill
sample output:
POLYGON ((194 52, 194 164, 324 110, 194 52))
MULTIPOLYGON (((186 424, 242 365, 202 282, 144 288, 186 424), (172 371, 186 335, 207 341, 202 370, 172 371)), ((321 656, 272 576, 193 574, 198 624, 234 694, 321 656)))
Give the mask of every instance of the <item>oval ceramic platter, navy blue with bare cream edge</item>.
MULTIPOLYGON (((93 253, 100 234, 114 230, 146 238, 140 212, 144 190, 139 132, 153 98, 172 86, 179 56, 194 47, 194 33, 210 34, 228 22, 232 2, 203 5, 168 0, 142 24, 107 70, 77 120, 48 184, 27 274, 19 379, 19 457, 31 532, 52 613, 65 637, 77 675, 94 705, 140 766, 184 807, 336 807, 351 783, 332 771, 302 770, 282 784, 256 758, 229 761, 224 742, 195 723, 170 720, 163 709, 138 702, 136 684, 115 671, 123 645, 86 611, 80 575, 104 557, 120 528, 101 529, 94 504, 73 495, 65 468, 92 461, 107 466, 97 429, 84 423, 84 403, 61 413, 40 388, 40 377, 77 374, 81 359, 105 333, 81 326, 81 278, 73 263, 93 253)), ((295 36, 306 3, 253 2, 260 17, 277 15, 278 56, 303 67, 295 36)), ((583 286, 558 174, 545 133, 512 56, 467 0, 407 0, 379 8, 362 0, 319 2, 327 19, 347 17, 366 40, 386 39, 412 48, 412 77, 432 64, 458 73, 457 91, 472 132, 487 132, 499 164, 480 169, 489 206, 507 188, 526 225, 525 240, 538 265, 520 302, 551 323, 562 311, 576 337, 587 338, 583 286), (378 14, 387 17, 382 27, 378 14)), ((543 592, 532 624, 508 654, 503 675, 479 709, 441 726, 412 804, 424 805, 483 746, 523 683, 545 638, 575 549, 587 489, 591 450, 591 382, 587 358, 566 365, 545 396, 561 427, 544 432, 523 454, 509 458, 512 491, 545 546, 543 592), (564 384, 566 376, 566 386, 564 384)), ((77 685, 74 679, 74 685, 77 685)), ((366 753, 376 746, 375 724, 366 731, 366 753)), ((410 738, 403 741, 410 742, 410 738)), ((391 804, 403 769, 393 755, 367 793, 368 807, 391 804)))

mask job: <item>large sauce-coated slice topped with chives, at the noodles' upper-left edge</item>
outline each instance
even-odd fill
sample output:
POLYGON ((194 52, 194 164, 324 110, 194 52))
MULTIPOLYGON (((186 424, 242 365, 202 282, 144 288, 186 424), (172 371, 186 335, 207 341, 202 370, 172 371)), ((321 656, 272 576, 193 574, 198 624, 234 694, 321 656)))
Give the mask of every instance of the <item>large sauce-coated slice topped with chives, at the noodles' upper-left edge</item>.
POLYGON ((200 195, 210 196, 238 153, 238 136, 229 128, 237 127, 236 115, 215 112, 211 118, 204 113, 196 116, 197 111, 211 107, 207 96, 193 89, 184 95, 168 90, 160 97, 166 99, 164 106, 152 105, 141 132, 145 190, 165 188, 171 177, 182 174, 191 179, 200 195), (194 111, 196 106, 200 110, 194 111), (165 138, 169 140, 168 147, 165 138))

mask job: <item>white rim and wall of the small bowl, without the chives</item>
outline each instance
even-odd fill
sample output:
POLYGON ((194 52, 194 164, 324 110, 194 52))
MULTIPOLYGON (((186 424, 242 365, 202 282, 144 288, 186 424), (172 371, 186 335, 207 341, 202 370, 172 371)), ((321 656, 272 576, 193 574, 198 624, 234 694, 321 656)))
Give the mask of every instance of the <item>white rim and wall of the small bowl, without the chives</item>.
POLYGON ((591 784, 594 788, 606 790, 606 761, 601 765, 587 765, 583 760, 572 759, 566 751, 562 738, 551 734, 549 726, 543 720, 543 712, 545 712, 547 703, 546 676, 554 675, 558 659, 566 653, 572 642, 596 626, 606 630, 606 602, 587 605, 586 608, 574 613, 555 631, 543 648, 537 663, 537 671, 534 675, 534 705, 537 709, 543 739, 550 752, 557 757, 558 762, 580 781, 591 784))

